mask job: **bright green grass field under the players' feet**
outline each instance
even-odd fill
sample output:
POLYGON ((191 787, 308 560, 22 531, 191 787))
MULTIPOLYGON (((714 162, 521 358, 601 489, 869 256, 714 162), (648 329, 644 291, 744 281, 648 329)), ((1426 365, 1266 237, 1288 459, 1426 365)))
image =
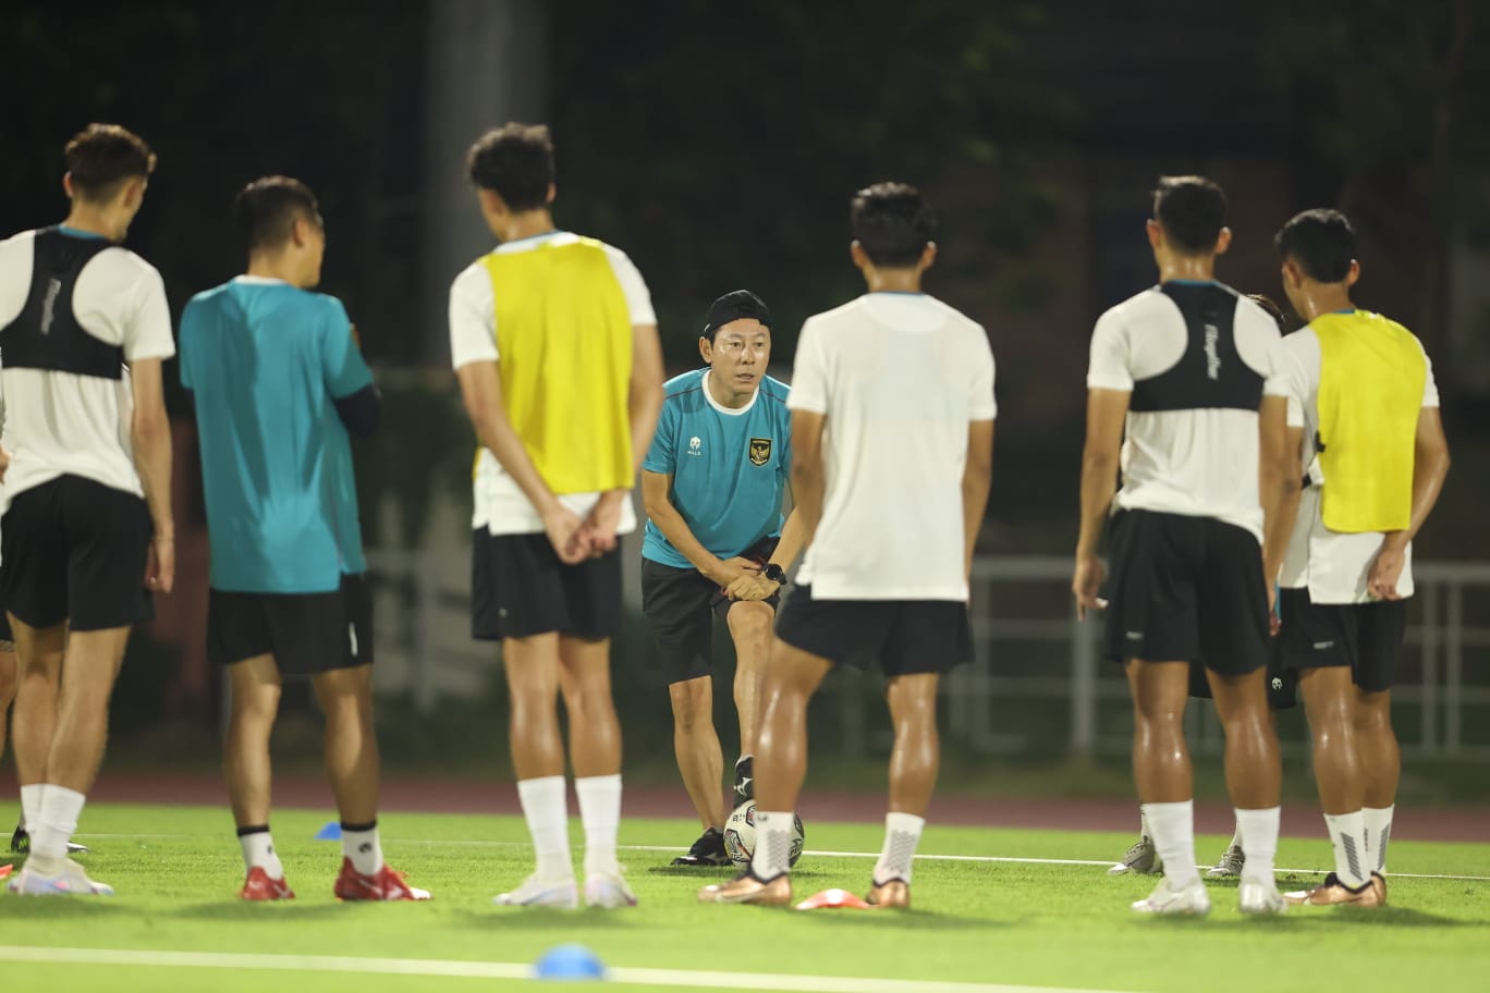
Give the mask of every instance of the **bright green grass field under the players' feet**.
MULTIPOLYGON (((383 819, 389 861, 411 883, 434 890, 431 904, 338 904, 331 881, 340 846, 311 840, 326 819, 314 811, 274 817, 276 844, 298 896, 243 904, 235 898, 241 862, 226 810, 89 807, 79 838, 94 852, 83 861, 119 895, 0 896, 6 986, 119 993, 593 989, 593 983, 520 978, 545 950, 583 942, 611 968, 618 990, 924 990, 955 989, 931 986, 952 983, 982 984, 970 990, 1153 993, 1490 987, 1490 883, 1407 877, 1490 875, 1490 844, 1395 841, 1392 902, 1377 911, 1295 908, 1280 919, 1247 919, 1235 910, 1235 884, 1213 883, 1216 908, 1208 919, 1153 920, 1128 911, 1152 878, 1034 862, 1106 862, 1123 852, 1126 835, 933 825, 921 844, 924 856, 1031 862, 922 858, 909 914, 791 913, 702 907, 696 887, 724 872, 670 869, 672 852, 638 847, 621 858, 641 907, 565 913, 490 904, 493 893, 527 871, 519 819, 444 814, 383 819), (124 962, 125 956, 95 953, 89 962, 83 953, 61 950, 137 957, 124 962), (209 956, 200 962, 210 965, 186 965, 189 957, 167 953, 241 957, 209 956), (687 975, 699 971, 723 975, 687 975), (907 984, 876 987, 876 980, 907 984)), ((681 846, 694 831, 679 820, 630 820, 621 843, 681 846)), ((809 823, 808 855, 794 874, 797 895, 833 886, 863 890, 879 841, 879 826, 809 823)), ((1223 846, 1225 838, 1204 837, 1199 856, 1213 858, 1223 846)), ((1328 858, 1323 840, 1284 840, 1278 865, 1320 866, 1328 858)), ((1292 889, 1314 880, 1292 874, 1280 884, 1292 889)))

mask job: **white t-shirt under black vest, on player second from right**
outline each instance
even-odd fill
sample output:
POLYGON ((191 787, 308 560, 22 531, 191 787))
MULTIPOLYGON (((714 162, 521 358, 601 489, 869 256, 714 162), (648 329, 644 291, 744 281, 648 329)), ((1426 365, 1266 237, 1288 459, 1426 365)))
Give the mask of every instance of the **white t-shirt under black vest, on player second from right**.
POLYGON ((1283 396, 1278 325, 1220 283, 1167 286, 1113 307, 1092 332, 1086 386, 1132 393, 1113 505, 1211 517, 1261 542, 1253 400, 1259 386, 1283 396))

